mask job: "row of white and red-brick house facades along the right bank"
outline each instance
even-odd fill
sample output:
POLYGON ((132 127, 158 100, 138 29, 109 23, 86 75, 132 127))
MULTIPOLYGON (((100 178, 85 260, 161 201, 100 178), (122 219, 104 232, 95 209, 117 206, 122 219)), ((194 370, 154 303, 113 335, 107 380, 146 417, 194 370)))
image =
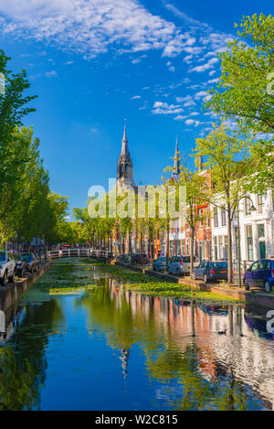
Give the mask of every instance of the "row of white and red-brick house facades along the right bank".
MULTIPOLYGON (((248 197, 256 210, 250 211, 249 199, 240 201, 239 221, 237 214, 232 220, 232 257, 237 260, 239 235, 241 259, 250 263, 274 256, 274 192, 269 189, 265 195, 249 194, 248 197)), ((212 205, 198 209, 202 220, 195 230, 195 255, 200 260, 227 259, 227 212, 212 205)), ((164 234, 156 237, 154 252, 165 254, 165 240, 164 234)), ((183 219, 172 223, 169 241, 171 255, 189 253, 190 231, 183 219)))

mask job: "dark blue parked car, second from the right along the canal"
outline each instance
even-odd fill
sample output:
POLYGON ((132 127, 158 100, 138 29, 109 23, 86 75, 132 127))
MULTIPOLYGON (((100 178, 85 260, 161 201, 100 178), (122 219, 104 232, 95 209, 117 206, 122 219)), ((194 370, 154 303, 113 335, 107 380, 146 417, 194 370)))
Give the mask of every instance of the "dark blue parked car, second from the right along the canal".
POLYGON ((205 283, 211 280, 227 280, 227 263, 224 261, 203 261, 195 267, 192 277, 202 279, 205 283))

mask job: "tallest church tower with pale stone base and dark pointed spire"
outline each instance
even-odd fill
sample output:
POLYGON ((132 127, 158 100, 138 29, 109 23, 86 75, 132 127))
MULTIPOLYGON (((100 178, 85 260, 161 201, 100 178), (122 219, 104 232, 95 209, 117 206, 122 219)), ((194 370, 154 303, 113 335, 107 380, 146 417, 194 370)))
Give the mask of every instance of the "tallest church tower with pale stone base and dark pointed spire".
POLYGON ((135 188, 133 182, 133 165, 129 151, 126 126, 124 124, 123 137, 121 141, 121 154, 117 164, 117 187, 118 188, 135 188))

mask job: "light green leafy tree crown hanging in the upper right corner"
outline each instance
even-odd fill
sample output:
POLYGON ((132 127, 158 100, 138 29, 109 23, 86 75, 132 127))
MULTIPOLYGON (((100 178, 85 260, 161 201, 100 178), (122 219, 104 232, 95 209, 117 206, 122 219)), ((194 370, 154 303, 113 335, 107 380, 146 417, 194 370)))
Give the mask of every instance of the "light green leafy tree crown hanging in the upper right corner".
POLYGON ((274 130, 274 17, 244 16, 238 39, 219 54, 222 74, 205 107, 225 118, 233 117, 244 132, 274 130))

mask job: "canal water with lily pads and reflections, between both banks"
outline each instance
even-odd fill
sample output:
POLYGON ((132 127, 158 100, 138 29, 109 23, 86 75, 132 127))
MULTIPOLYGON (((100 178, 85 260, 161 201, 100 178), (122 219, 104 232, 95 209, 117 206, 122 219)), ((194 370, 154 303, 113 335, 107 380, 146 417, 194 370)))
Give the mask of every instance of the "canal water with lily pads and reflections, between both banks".
POLYGON ((55 262, 2 315, 0 410, 273 408, 265 310, 140 295, 95 267, 55 262))

